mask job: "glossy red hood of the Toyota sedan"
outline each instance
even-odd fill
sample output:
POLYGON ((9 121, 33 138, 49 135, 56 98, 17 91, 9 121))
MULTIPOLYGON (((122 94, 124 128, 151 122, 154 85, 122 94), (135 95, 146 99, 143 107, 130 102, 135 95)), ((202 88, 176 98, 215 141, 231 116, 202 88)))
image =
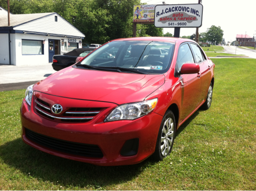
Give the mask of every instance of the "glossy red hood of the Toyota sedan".
POLYGON ((165 76, 162 74, 144 75, 68 67, 36 83, 33 91, 124 104, 144 100, 164 81, 165 76))

